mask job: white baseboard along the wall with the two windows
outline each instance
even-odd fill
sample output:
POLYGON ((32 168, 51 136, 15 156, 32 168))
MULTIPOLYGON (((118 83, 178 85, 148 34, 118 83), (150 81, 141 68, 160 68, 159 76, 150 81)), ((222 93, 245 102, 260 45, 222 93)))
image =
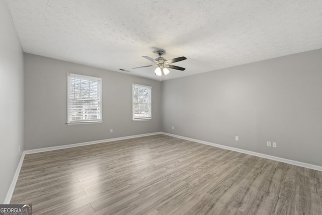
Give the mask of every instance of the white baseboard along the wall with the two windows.
POLYGON ((130 139, 130 138, 136 138, 136 137, 142 137, 142 136, 150 136, 150 135, 161 134, 161 133, 162 132, 154 132, 154 133, 145 133, 145 134, 138 134, 138 135, 132 135, 132 136, 123 136, 123 137, 102 139, 102 140, 96 140, 96 141, 90 141, 90 142, 81 142, 79 144, 69 144, 69 145, 63 145, 63 146, 58 146, 58 147, 48 147, 48 148, 42 148, 42 149, 27 150, 27 151, 24 151, 24 152, 27 155, 27 154, 34 154, 34 153, 48 152, 48 151, 53 151, 53 150, 68 149, 68 148, 81 147, 81 146, 87 146, 87 145, 93 145, 93 144, 102 144, 103 142, 111 142, 111 141, 130 139))

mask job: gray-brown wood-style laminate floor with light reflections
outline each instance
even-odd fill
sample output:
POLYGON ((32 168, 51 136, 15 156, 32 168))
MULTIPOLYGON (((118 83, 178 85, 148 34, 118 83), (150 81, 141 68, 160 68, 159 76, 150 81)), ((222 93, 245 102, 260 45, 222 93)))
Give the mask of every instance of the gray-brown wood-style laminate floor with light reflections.
POLYGON ((153 135, 25 156, 33 214, 322 214, 322 172, 153 135))

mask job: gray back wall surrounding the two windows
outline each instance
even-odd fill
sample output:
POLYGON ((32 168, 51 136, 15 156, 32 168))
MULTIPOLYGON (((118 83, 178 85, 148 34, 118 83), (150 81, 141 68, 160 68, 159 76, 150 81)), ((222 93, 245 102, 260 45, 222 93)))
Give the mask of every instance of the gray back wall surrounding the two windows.
POLYGON ((160 82, 33 54, 24 59, 26 150, 161 130, 160 82), (102 78, 103 123, 65 124, 67 73, 102 78), (132 121, 133 83, 152 87, 151 121, 132 121))

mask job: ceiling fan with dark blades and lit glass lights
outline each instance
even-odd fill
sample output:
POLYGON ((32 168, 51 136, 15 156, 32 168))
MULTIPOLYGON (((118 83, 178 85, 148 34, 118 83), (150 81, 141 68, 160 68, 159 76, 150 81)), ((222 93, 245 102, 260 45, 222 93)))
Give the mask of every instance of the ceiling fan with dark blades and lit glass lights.
MULTIPOLYGON (((145 65, 145 66, 139 66, 139 67, 135 67, 135 68, 143 68, 143 67, 149 67, 149 66, 157 66, 154 70, 155 75, 157 76, 162 76, 162 74, 168 75, 170 73, 168 68, 173 68, 173 69, 178 69, 178 70, 185 70, 186 68, 180 67, 180 66, 176 66, 176 65, 170 65, 169 63, 175 63, 181 60, 185 60, 187 59, 186 57, 177 57, 177 58, 173 58, 170 60, 167 60, 164 57, 161 57, 161 55, 163 55, 164 51, 158 50, 156 51, 156 53, 159 55, 159 57, 153 59, 151 57, 148 56, 142 56, 147 60, 150 60, 152 62, 155 63, 155 65, 145 65)), ((132 68, 134 69, 134 68, 132 68)))

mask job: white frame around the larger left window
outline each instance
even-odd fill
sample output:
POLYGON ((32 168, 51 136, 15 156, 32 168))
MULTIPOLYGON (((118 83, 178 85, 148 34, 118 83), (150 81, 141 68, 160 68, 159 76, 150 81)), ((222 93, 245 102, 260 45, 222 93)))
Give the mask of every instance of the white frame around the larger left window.
MULTIPOLYGON (((91 101, 91 99, 89 99, 91 101)), ((97 100, 92 100, 92 101, 97 101, 97 100)), ((93 76, 84 76, 84 75, 79 75, 79 74, 73 74, 73 73, 67 73, 67 125, 77 125, 77 124, 95 124, 95 123, 102 123, 102 79, 93 77, 93 76), (93 119, 83 119, 83 120, 71 120, 70 119, 70 77, 77 77, 77 78, 84 78, 87 80, 93 80, 93 81, 98 81, 99 82, 99 108, 100 108, 100 114, 99 114, 99 119, 93 120, 93 119)))

